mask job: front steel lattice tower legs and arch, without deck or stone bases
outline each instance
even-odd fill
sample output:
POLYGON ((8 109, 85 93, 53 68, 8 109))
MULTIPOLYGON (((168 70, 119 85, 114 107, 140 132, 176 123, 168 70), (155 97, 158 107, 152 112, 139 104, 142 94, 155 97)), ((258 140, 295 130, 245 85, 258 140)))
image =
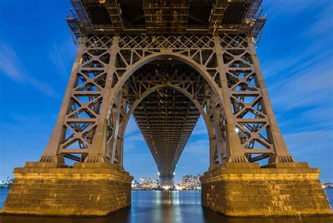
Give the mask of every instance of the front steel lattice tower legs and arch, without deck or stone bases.
POLYGON ((40 161, 64 163, 66 157, 86 163, 114 163, 114 148, 121 141, 117 138, 119 123, 126 113, 122 105, 124 83, 136 70, 159 60, 183 62, 207 81, 211 91, 208 116, 216 138, 211 163, 268 158, 274 163, 276 157, 293 161, 275 119, 268 118, 272 112, 253 52, 247 36, 236 34, 85 36, 58 122, 40 161))

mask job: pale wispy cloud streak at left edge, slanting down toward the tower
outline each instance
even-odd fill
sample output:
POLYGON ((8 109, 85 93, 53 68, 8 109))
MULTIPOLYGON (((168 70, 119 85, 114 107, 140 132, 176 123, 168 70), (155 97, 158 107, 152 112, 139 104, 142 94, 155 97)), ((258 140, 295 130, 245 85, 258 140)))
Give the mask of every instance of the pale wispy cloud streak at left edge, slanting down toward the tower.
POLYGON ((0 74, 15 82, 29 84, 45 95, 57 97, 51 86, 39 81, 27 72, 15 50, 2 41, 0 41, 0 61, 0 74))

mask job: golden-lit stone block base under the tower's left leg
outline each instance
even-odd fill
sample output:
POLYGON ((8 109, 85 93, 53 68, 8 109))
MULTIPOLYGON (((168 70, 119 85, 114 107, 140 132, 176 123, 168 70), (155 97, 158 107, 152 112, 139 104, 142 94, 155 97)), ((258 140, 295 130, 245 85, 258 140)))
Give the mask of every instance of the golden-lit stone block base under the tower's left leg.
POLYGON ((133 177, 107 163, 26 163, 2 213, 25 215, 107 215, 131 205, 133 177))

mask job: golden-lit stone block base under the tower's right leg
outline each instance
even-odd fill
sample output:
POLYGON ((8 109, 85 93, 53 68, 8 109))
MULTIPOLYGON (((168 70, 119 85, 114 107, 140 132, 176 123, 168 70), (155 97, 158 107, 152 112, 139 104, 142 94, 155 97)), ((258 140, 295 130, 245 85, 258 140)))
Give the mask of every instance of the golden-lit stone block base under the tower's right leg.
POLYGON ((200 178, 202 205, 233 217, 330 215, 319 173, 308 163, 227 163, 200 178))

